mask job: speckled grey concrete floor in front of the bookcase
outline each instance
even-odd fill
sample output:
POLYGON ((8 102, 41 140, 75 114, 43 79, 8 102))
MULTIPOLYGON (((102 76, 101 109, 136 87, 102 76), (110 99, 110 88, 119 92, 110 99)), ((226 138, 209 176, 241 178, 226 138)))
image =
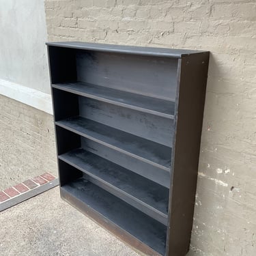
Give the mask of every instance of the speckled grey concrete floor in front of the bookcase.
POLYGON ((138 256, 59 197, 59 187, 0 212, 2 256, 138 256))

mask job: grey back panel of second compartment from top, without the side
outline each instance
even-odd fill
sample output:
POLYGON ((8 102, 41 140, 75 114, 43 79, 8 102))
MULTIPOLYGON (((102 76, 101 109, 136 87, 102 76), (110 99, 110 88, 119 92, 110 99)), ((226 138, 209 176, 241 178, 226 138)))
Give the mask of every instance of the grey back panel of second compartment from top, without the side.
POLYGON ((79 113, 101 124, 171 147, 173 120, 79 97, 79 113))

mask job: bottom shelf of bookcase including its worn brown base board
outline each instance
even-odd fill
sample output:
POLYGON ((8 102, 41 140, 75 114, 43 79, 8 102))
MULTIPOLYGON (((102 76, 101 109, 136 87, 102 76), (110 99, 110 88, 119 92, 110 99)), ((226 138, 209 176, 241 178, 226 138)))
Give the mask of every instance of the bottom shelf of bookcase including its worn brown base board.
MULTIPOLYGON (((85 178, 61 186, 61 197, 120 238, 132 241, 134 247, 143 248, 143 244, 146 244, 160 255, 165 254, 167 233, 165 225, 88 182, 85 178)), ((144 251, 147 251, 145 248, 147 246, 144 246, 144 251)))

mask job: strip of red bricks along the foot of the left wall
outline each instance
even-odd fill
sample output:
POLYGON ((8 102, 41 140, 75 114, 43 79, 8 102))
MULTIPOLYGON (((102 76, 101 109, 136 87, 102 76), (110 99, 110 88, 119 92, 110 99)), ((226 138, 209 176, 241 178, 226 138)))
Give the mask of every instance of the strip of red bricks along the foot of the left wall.
POLYGON ((51 173, 44 173, 40 176, 33 177, 30 180, 26 180, 25 182, 22 182, 10 188, 6 188, 5 190, 0 191, 0 204, 10 199, 13 199, 14 197, 18 197, 19 195, 27 193, 34 188, 38 188, 39 186, 47 184, 48 182, 51 182, 55 179, 56 177, 53 176, 51 173))

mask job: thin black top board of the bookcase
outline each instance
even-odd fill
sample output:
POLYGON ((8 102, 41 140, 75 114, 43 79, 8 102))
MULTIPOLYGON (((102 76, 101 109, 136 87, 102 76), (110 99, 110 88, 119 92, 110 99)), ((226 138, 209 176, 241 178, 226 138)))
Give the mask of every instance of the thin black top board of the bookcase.
POLYGON ((187 55, 193 55, 198 53, 208 53, 208 51, 127 46, 127 45, 117 45, 117 44, 98 44, 98 43, 89 43, 89 42, 46 42, 46 45, 64 47, 64 48, 76 48, 76 49, 87 50, 87 51, 101 51, 101 52, 108 52, 108 53, 124 53, 124 54, 147 55, 147 56, 156 56, 156 57, 171 57, 171 58, 181 58, 187 55))

